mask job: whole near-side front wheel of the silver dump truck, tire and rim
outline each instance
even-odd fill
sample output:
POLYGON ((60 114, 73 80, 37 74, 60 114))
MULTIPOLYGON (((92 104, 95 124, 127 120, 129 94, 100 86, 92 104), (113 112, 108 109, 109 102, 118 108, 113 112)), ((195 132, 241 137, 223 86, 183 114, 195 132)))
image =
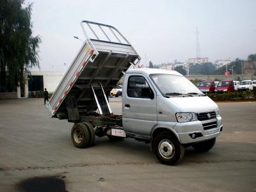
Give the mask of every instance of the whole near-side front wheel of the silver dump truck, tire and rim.
POLYGON ((178 164, 184 157, 184 146, 170 132, 157 134, 153 141, 157 159, 163 164, 178 164))

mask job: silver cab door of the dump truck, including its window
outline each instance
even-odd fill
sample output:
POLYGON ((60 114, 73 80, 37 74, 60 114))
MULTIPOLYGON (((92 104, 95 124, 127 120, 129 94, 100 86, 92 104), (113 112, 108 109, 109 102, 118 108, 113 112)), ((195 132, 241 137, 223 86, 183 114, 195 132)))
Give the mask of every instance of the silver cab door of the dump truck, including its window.
POLYGON ((156 92, 149 79, 142 74, 126 74, 123 88, 123 126, 132 137, 150 138, 157 124, 156 92))

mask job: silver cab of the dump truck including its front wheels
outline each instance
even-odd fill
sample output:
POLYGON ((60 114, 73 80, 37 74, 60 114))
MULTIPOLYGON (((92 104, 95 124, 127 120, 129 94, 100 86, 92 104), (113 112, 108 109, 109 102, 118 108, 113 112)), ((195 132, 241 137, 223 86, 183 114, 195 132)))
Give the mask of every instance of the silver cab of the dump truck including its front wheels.
POLYGON ((184 146, 210 150, 223 127, 217 104, 186 77, 150 68, 126 72, 122 120, 127 136, 150 140, 166 164, 179 162, 184 146))

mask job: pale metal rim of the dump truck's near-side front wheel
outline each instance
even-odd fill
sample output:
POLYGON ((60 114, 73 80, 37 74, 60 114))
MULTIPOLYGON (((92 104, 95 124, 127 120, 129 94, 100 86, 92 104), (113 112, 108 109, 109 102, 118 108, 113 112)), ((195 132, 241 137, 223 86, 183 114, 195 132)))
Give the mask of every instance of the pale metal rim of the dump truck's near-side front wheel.
POLYGON ((162 140, 158 145, 159 154, 164 157, 164 159, 171 159, 174 156, 175 148, 172 141, 162 140))

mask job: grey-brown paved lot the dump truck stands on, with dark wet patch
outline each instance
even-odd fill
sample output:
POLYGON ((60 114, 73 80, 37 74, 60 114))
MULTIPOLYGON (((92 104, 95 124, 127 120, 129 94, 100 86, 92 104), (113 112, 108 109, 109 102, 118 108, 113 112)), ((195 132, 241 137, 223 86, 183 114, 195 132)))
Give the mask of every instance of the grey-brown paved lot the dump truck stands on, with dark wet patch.
MULTIPOLYGON (((120 113, 121 99, 110 100, 120 113)), ((219 103, 216 146, 205 154, 186 148, 177 166, 132 139, 76 148, 72 124, 52 119, 42 103, 0 100, 0 191, 256 191, 256 102, 219 103)))

